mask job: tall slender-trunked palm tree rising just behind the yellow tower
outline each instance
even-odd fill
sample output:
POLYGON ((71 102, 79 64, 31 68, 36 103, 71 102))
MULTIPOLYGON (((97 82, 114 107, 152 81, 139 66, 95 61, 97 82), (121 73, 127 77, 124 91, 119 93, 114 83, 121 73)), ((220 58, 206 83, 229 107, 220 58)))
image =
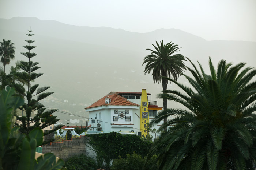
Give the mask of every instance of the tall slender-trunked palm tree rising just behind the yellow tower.
MULTIPOLYGON (((155 42, 157 43, 157 41, 155 42)), ((144 74, 149 74, 152 71, 154 83, 162 82, 163 92, 165 93, 165 90, 167 90, 167 79, 162 77, 172 77, 174 80, 177 80, 182 75, 183 70, 186 69, 184 64, 186 60, 183 55, 176 54, 181 48, 178 45, 174 45, 172 42, 163 44, 163 40, 160 43, 160 45, 157 43, 157 46, 152 44, 154 50, 146 49, 151 51, 151 54, 144 58, 143 64, 147 63, 144 74)), ((163 99, 163 109, 167 109, 167 99, 163 99)), ((167 117, 163 122, 167 122, 167 117)))

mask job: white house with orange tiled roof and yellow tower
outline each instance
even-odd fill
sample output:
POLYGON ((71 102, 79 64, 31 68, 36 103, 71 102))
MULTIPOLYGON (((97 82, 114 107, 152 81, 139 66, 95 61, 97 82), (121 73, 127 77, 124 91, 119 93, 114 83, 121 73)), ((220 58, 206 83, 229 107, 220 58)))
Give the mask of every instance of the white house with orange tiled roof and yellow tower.
MULTIPOLYGON (((142 89, 142 92, 110 92, 85 109, 89 111, 91 126, 87 133, 116 131, 146 137, 148 122, 162 107, 158 107, 157 101, 151 100, 151 94, 142 89)), ((151 135, 156 137, 156 134, 151 135)))

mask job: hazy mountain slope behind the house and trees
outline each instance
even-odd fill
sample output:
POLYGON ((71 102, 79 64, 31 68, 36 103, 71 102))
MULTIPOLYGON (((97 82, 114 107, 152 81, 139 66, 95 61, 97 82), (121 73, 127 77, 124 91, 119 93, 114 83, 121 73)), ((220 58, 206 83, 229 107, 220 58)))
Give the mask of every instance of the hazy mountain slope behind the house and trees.
MULTIPOLYGON (((140 92, 146 88, 152 99, 161 92, 162 85, 154 84, 151 75, 144 75, 143 58, 150 54, 146 48, 153 48, 151 43, 163 40, 165 43, 178 44, 180 53, 195 64, 199 61, 206 72, 208 57, 211 56, 216 66, 221 59, 237 64, 248 63, 256 67, 256 42, 246 41, 207 41, 196 35, 178 29, 158 29, 148 33, 129 32, 110 27, 79 27, 57 21, 42 21, 31 17, 0 19, 0 40, 11 40, 15 43, 15 60, 26 60, 20 52, 27 52, 24 41, 31 26, 35 34, 32 40, 37 54, 32 58, 39 62, 38 72, 44 73, 36 80, 42 86, 51 86, 53 91, 42 103, 46 107, 58 108, 73 114, 88 117, 84 107, 89 106, 110 91, 140 92)), ((187 66, 191 64, 186 62, 187 66)), ((179 78, 187 83, 184 78, 179 78)), ((168 88, 177 88, 169 84, 168 88)), ((162 101, 158 99, 159 106, 162 101)), ((169 106, 179 107, 169 103, 169 106)), ((56 113, 59 119, 68 115, 56 113)), ((69 117, 71 124, 79 117, 69 117)), ((82 118, 81 118, 82 119, 82 118)), ((84 120, 84 119, 83 119, 84 120)), ((65 123, 65 121, 63 121, 65 123)), ((84 123, 83 123, 84 124, 84 123)))

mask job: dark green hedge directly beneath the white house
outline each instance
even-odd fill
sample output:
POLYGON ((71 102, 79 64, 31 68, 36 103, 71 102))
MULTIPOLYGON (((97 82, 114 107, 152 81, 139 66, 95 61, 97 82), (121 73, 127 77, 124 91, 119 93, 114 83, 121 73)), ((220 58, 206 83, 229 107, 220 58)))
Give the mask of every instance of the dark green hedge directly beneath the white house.
POLYGON ((97 163, 99 167, 106 163, 106 167, 110 167, 110 162, 117 159, 118 156, 125 157, 126 154, 136 154, 145 157, 152 146, 151 141, 143 140, 136 135, 121 135, 116 132, 91 134, 88 135, 92 150, 97 154, 97 163))

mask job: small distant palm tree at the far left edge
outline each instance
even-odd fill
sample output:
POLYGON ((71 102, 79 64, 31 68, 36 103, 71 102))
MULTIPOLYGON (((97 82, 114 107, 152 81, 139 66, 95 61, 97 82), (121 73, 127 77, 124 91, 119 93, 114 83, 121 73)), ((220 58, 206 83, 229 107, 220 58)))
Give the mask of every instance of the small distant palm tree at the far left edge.
POLYGON ((11 59, 14 59, 15 54, 15 47, 14 43, 11 42, 11 40, 6 41, 3 39, 3 42, 1 42, 0 47, 0 56, 1 57, 1 63, 4 64, 4 73, 5 73, 5 65, 10 63, 11 59))

